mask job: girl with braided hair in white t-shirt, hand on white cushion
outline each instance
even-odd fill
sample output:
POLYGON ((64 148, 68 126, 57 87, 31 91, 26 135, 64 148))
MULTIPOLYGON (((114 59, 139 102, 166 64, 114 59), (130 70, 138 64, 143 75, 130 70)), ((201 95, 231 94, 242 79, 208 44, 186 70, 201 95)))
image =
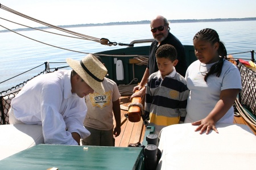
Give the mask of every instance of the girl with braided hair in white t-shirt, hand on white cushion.
POLYGON ((187 69, 185 79, 190 90, 185 123, 199 125, 206 134, 218 133, 216 122, 233 123, 233 103, 241 91, 241 75, 233 63, 226 61, 226 48, 218 33, 202 29, 193 38, 197 61, 187 69))

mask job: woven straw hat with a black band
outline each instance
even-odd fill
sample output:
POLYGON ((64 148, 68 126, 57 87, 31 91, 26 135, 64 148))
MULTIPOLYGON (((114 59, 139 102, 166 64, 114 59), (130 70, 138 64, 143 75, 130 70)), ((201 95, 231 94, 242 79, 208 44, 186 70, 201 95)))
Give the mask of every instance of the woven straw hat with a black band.
POLYGON ((67 58, 66 61, 94 91, 104 94, 105 90, 101 82, 108 70, 93 54, 88 54, 81 61, 71 58, 67 58))

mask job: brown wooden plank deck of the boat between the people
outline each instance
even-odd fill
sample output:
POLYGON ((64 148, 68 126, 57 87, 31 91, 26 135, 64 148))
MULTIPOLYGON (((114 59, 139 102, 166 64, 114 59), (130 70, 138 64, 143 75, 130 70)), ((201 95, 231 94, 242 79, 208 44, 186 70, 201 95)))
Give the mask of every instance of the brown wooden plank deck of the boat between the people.
MULTIPOLYGON (((128 107, 128 105, 131 103, 130 96, 121 96, 119 101, 120 104, 124 107, 128 107)), ((121 109, 121 134, 115 138, 116 147, 127 147, 130 143, 142 143, 144 138, 145 126, 143 125, 142 119, 139 122, 130 122, 125 117, 126 113, 127 111, 121 109)), ((234 123, 249 126, 256 135, 255 126, 250 126, 247 124, 247 122, 243 120, 242 117, 234 117, 234 123)))

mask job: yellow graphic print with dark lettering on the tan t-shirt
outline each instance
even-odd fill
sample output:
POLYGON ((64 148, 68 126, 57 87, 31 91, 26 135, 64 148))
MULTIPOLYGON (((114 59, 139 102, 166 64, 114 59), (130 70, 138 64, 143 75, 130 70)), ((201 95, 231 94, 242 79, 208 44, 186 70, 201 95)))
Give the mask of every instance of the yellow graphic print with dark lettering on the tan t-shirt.
POLYGON ((94 94, 90 94, 89 96, 93 107, 102 109, 111 102, 111 91, 105 92, 104 95, 94 92, 94 94))

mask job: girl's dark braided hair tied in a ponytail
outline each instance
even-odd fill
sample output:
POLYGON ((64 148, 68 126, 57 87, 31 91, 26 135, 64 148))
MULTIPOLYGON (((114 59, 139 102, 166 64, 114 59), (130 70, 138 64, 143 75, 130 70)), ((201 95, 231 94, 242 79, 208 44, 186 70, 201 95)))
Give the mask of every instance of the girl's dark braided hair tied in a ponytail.
POLYGON ((212 43, 212 45, 214 43, 218 42, 218 44, 219 44, 218 55, 221 56, 221 58, 217 63, 214 63, 214 65, 212 65, 212 67, 210 67, 210 70, 205 75, 204 80, 205 80, 205 82, 207 82, 207 78, 211 74, 216 73, 216 76, 220 76, 222 66, 224 63, 224 58, 226 59, 227 52, 226 52, 225 45, 223 44, 223 42, 220 41, 220 38, 218 37, 218 33, 214 29, 205 28, 196 33, 196 35, 193 37, 193 40, 195 40, 195 39, 209 41, 212 43))

